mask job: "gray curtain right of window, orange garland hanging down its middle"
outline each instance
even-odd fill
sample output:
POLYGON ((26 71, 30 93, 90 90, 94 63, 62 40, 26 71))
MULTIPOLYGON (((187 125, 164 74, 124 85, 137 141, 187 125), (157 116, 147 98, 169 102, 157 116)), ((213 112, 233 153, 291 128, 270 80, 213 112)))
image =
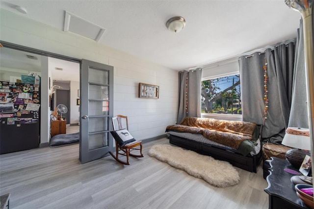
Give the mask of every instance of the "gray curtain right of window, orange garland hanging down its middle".
POLYGON ((288 127, 291 105, 294 43, 276 46, 274 50, 255 52, 253 56, 239 58, 243 121, 263 123, 264 58, 267 60, 267 119, 262 137, 280 143, 288 127))

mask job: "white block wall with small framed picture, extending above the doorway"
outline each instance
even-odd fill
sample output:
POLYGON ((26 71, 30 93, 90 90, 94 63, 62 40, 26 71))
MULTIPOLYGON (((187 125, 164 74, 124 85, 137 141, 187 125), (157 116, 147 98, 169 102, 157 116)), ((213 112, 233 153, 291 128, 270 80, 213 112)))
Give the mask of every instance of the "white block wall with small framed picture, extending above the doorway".
MULTIPOLYGON (((0 9, 0 40, 113 66, 113 112, 129 117, 130 132, 136 139, 163 135, 166 126, 176 121, 178 71, 3 9, 0 9), (139 82, 159 85, 159 99, 138 98, 139 82)), ((42 137, 41 143, 45 142, 48 137, 42 137)))

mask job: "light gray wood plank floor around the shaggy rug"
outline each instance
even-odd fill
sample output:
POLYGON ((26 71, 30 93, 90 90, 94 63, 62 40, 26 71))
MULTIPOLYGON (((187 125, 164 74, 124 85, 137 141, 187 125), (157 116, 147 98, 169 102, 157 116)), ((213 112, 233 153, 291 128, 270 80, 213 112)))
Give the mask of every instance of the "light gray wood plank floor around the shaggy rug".
MULTIPOLYGON (((0 155, 0 194, 11 209, 267 209, 267 187, 258 173, 237 169, 241 181, 217 188, 156 158, 123 166, 111 156, 81 164, 78 144, 0 155)), ((221 171, 224 172, 224 171, 221 171)))

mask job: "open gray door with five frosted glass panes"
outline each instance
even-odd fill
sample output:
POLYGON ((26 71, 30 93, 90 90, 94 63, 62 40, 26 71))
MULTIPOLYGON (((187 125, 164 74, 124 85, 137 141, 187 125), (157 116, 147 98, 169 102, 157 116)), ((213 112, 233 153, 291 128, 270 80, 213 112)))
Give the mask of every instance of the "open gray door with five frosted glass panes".
POLYGON ((113 67, 82 60, 80 73, 81 163, 105 157, 113 149, 113 67))

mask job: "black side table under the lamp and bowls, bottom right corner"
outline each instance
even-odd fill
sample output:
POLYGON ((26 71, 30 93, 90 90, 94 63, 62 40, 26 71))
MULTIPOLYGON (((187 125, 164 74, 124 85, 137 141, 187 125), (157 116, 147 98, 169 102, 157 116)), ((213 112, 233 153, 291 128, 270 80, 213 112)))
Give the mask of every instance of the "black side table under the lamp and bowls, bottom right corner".
POLYGON ((286 159, 277 157, 265 160, 264 169, 267 168, 267 163, 269 163, 269 175, 266 178, 268 187, 264 191, 269 195, 269 209, 310 209, 296 195, 294 184, 290 181, 294 175, 284 170, 297 169, 286 159))

